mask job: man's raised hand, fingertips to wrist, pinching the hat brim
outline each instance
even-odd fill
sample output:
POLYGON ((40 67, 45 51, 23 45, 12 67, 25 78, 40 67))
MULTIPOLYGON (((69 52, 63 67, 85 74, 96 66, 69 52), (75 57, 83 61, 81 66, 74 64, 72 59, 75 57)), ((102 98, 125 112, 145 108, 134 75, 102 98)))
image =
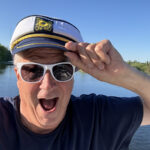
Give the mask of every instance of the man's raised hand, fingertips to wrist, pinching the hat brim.
POLYGON ((120 85, 127 64, 108 40, 95 44, 68 42, 65 52, 73 65, 98 80, 120 85))

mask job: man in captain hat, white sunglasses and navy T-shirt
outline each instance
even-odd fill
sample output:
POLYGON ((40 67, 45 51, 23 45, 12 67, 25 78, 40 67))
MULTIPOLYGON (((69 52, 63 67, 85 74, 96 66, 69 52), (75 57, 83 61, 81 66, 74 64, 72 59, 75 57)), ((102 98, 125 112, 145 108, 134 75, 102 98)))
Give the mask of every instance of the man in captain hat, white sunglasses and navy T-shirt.
POLYGON ((110 41, 84 43, 69 22, 37 15, 17 24, 10 46, 19 96, 0 100, 1 150, 125 150, 150 124, 150 77, 110 41), (71 96, 78 69, 140 97, 71 96))

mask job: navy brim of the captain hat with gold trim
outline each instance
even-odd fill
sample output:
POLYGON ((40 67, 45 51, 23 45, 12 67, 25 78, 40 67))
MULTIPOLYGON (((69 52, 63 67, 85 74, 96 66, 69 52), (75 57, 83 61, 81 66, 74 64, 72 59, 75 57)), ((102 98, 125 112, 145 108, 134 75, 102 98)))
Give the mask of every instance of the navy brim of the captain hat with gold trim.
POLYGON ((19 53, 21 51, 31 49, 31 48, 38 48, 38 47, 47 47, 47 48, 54 48, 63 51, 68 51, 65 48, 64 41, 60 41, 57 39, 45 38, 45 37, 34 37, 28 38, 21 42, 19 42, 12 50, 12 54, 19 53))

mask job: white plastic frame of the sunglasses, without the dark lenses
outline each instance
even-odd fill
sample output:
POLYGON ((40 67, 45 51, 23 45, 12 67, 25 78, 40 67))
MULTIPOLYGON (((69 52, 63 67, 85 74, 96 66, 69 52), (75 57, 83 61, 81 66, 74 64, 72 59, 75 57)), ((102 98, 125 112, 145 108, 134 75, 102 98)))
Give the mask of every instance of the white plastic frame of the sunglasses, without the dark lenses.
POLYGON ((57 82, 68 82, 68 81, 70 81, 70 80, 73 78, 74 73, 75 73, 75 68, 76 68, 76 67, 75 67, 73 64, 71 64, 70 62, 59 62, 59 63, 49 64, 49 65, 47 65, 47 64, 35 63, 35 62, 19 62, 19 63, 16 64, 16 67, 17 67, 17 70, 18 70, 18 72, 19 72, 19 75, 20 75, 21 79, 22 79, 23 81, 25 81, 25 82, 28 82, 28 83, 38 83, 38 82, 40 82, 40 81, 44 78, 44 76, 45 76, 47 70, 50 71, 51 76, 52 76, 53 79, 56 80, 57 82), (34 82, 29 82, 29 81, 26 81, 26 80, 23 79, 22 74, 21 74, 21 68, 23 67, 23 65, 29 65, 29 64, 31 64, 31 65, 39 65, 39 66, 41 66, 41 67, 44 68, 43 76, 41 77, 40 80, 34 81, 34 82), (53 71, 52 71, 52 68, 53 68, 54 66, 61 65, 61 64, 70 64, 70 65, 72 66, 72 68, 73 68, 73 74, 72 74, 72 77, 71 77, 70 79, 65 80, 65 81, 60 81, 60 80, 57 80, 56 77, 54 76, 53 71))

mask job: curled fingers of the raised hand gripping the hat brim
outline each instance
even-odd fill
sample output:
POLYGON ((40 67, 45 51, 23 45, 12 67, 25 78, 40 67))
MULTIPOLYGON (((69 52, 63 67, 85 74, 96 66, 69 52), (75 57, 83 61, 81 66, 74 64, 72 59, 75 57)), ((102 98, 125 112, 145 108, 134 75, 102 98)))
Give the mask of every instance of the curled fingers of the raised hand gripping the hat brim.
POLYGON ((71 52, 66 52, 65 54, 66 56, 68 55, 74 65, 80 65, 78 67, 88 66, 93 68, 95 66, 102 70, 105 65, 110 64, 109 51, 112 45, 108 40, 95 44, 68 42, 65 47, 75 52, 74 54, 71 54, 71 52))

